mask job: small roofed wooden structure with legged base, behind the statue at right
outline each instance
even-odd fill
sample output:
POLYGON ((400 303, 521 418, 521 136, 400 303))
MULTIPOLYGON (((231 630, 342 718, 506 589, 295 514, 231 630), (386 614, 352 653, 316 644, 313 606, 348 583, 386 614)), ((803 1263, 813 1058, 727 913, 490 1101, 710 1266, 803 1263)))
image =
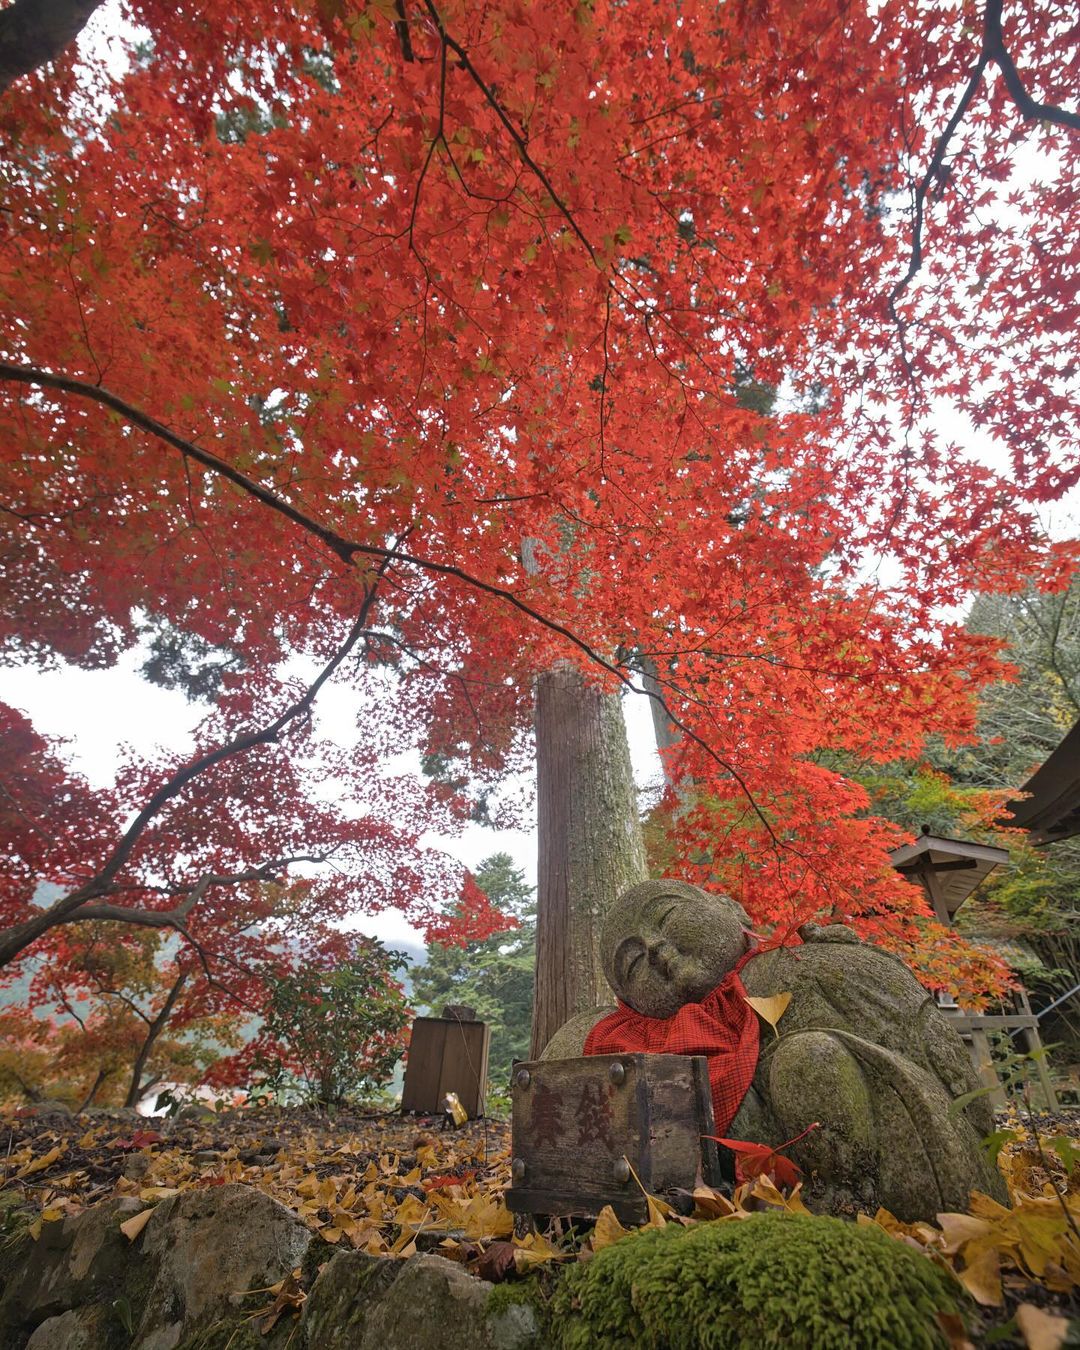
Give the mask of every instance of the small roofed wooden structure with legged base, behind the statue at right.
MULTIPOLYGON (((1080 829, 1080 825, 1077 828, 1080 829)), ((969 844, 965 840, 925 833, 914 844, 895 849, 890 857, 898 872, 922 886, 938 919, 952 926, 957 910, 976 887, 995 867, 1008 860, 1008 850, 990 844, 969 844)), ((1015 1035, 1026 1053, 1035 1056, 1033 1062, 1042 1095, 1046 1106, 1054 1110, 1057 1095, 1046 1071, 1045 1056, 1037 1053, 1042 1052, 1042 1041, 1038 1034, 1038 1018, 1031 1011, 1026 990, 1019 988, 1010 1002, 1013 1007, 1006 1007, 1002 1013, 964 1013, 949 992, 937 996, 938 1007, 967 1042, 980 1083, 992 1088, 991 1100, 995 1106, 1003 1107, 1006 1095, 994 1068, 990 1033, 1008 1031, 1015 1035)))

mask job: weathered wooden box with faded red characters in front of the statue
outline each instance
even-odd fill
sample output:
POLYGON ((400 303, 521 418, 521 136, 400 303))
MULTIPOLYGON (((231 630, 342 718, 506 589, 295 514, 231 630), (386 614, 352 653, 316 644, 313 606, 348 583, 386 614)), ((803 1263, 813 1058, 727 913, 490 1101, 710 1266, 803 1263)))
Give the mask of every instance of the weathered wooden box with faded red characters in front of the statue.
MULTIPOLYGON (((595 1054, 514 1068, 506 1204, 517 1214, 648 1218, 651 1195, 721 1183, 707 1061, 595 1054), (634 1173, 641 1185, 634 1181, 634 1173)), ((726 1153, 726 1150, 725 1150, 726 1153)))

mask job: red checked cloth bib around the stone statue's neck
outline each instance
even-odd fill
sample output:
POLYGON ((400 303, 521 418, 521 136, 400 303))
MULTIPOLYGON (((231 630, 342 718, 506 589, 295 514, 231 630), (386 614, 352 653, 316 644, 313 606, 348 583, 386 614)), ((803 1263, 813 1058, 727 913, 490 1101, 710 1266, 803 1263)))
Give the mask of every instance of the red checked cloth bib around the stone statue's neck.
POLYGON ((672 1017, 645 1017, 620 999, 618 1011, 585 1038, 585 1053, 707 1056, 717 1134, 726 1134, 757 1068, 757 1015, 745 1002, 742 961, 701 1003, 684 1003, 672 1017))

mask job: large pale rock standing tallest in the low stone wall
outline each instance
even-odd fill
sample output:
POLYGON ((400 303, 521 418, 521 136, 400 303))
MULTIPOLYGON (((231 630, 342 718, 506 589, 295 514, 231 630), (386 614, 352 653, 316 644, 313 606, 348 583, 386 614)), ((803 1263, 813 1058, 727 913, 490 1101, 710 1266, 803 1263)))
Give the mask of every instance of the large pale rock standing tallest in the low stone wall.
MULTIPOLYGON (((144 1291, 131 1350, 174 1350, 300 1266, 312 1233, 261 1191, 223 1185, 158 1206, 139 1239, 144 1291)), ((132 1300, 134 1301, 134 1300, 132 1300)))

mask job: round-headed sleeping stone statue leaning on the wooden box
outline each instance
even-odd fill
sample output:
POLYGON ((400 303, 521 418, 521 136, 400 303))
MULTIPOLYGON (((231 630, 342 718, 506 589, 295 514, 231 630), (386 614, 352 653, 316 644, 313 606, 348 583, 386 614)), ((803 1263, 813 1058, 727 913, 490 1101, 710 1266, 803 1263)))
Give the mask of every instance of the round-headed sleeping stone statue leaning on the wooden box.
MULTIPOLYGON (((1004 1200, 1002 1179, 979 1148, 994 1129, 988 1100, 949 1110, 979 1084, 960 1035, 907 967, 840 925, 807 925, 802 945, 755 954, 748 926, 734 900, 663 880, 625 891, 601 933, 605 973, 632 1030, 652 1035, 662 1019, 678 1017, 683 1026, 687 1014, 697 1025, 694 1004, 716 1008, 717 994, 736 1021, 748 1017, 744 992, 791 995, 778 1035, 765 1022, 749 1023, 756 1066, 751 1056, 734 1116, 717 1133, 779 1145, 819 1122, 788 1150, 818 1211, 873 1214, 883 1206, 911 1222, 967 1210, 972 1189, 1004 1200)), ((544 1058, 587 1053, 590 1035, 590 1050, 599 1038, 599 1053, 610 1053, 614 1033, 605 1029, 620 1025, 610 1018, 618 1011, 571 1018, 544 1058)), ((664 1034, 672 1025, 663 1022, 664 1034)), ((675 1049, 670 1041, 667 1048, 675 1049)), ((714 1103, 722 1077, 713 1077, 714 1103)))

